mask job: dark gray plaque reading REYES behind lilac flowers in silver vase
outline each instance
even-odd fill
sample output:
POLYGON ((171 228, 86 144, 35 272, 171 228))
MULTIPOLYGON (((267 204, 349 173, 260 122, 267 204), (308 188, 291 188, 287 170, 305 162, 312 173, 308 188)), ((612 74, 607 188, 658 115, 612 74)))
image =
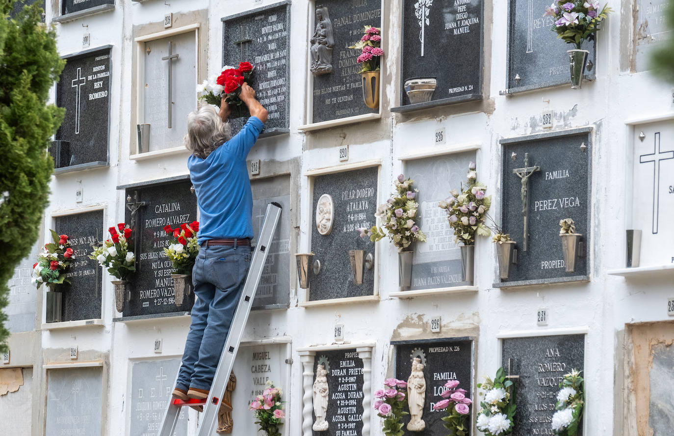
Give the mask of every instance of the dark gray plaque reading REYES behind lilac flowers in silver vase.
MULTIPOLYGON (((508 27, 508 88, 510 92, 570 83, 567 50, 576 46, 557 38, 550 30, 555 20, 544 17, 549 0, 512 0, 508 27)), ((590 51, 586 76, 594 78, 594 42, 582 49, 590 51)))

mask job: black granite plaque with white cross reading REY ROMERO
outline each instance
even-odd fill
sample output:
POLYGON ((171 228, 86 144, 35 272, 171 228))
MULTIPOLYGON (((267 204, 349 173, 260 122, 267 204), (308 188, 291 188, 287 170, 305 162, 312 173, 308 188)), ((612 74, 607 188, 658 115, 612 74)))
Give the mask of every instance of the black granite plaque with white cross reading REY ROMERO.
POLYGON ((108 162, 111 48, 66 56, 56 87, 65 118, 52 146, 54 167, 108 162))

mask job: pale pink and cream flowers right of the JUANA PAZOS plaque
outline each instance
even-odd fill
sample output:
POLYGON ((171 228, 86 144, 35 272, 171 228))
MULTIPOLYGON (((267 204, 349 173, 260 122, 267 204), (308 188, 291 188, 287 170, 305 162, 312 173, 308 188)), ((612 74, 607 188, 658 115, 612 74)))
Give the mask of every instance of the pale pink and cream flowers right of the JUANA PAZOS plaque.
POLYGON ((445 209, 450 227, 454 229, 456 242, 465 246, 475 244, 475 236, 489 236, 491 231, 485 225, 487 211, 491 206, 491 196, 485 195, 487 186, 477 181, 475 163, 468 164, 468 183, 466 188, 461 184, 462 192, 454 188, 450 197, 441 200, 438 207, 445 209))

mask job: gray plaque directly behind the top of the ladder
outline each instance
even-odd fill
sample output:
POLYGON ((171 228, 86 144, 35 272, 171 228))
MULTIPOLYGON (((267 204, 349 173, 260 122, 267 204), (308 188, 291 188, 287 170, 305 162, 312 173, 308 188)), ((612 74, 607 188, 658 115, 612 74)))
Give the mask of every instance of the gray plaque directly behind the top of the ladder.
POLYGON ((287 308, 290 302, 290 176, 253 180, 251 188, 255 234, 253 244, 257 244, 267 205, 277 202, 282 207, 276 233, 255 292, 253 309, 287 308))

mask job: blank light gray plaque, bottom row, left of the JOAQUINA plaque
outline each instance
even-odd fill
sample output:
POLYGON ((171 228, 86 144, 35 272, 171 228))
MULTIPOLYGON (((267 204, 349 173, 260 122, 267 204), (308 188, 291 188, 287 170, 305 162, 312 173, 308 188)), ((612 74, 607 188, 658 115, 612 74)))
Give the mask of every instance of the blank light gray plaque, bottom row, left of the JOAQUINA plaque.
POLYGON ((47 371, 45 436, 100 435, 102 368, 47 371))

